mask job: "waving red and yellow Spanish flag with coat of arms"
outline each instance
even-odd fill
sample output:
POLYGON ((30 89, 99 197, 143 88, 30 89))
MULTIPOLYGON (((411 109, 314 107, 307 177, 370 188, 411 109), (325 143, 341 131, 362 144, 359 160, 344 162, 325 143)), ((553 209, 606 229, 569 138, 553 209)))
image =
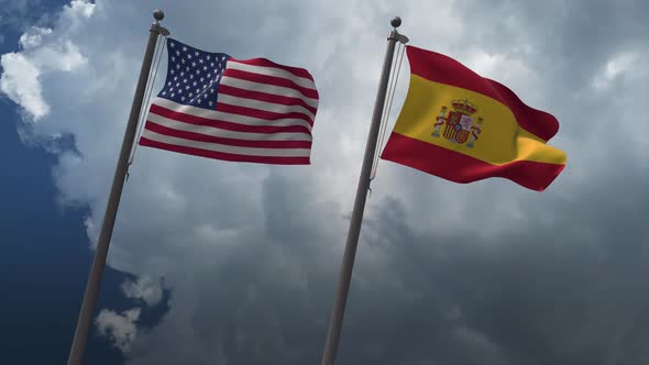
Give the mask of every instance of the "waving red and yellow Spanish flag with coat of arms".
POLYGON ((557 119, 444 55, 408 46, 410 85, 382 158, 454 182, 490 177, 542 191, 565 166, 557 119))

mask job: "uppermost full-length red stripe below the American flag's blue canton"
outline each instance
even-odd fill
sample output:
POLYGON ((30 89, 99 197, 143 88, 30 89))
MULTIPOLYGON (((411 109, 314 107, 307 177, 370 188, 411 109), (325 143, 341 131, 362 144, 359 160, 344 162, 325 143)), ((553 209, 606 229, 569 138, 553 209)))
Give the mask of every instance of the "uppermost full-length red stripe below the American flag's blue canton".
MULTIPOLYGON (((309 129, 304 125, 288 125, 288 126, 276 126, 276 125, 248 125, 248 124, 239 124, 228 121, 215 120, 215 119, 207 119, 202 117, 196 117, 191 114, 185 114, 177 111, 173 111, 170 109, 163 108, 157 104, 151 104, 151 112, 164 118, 168 118, 178 122, 196 124, 196 125, 207 125, 212 128, 218 128, 221 130, 228 131, 235 131, 235 132, 249 132, 249 133, 306 133, 311 135, 309 129)), ((301 114, 300 114, 301 115, 301 114)), ((279 119, 279 118, 277 118, 279 119)))

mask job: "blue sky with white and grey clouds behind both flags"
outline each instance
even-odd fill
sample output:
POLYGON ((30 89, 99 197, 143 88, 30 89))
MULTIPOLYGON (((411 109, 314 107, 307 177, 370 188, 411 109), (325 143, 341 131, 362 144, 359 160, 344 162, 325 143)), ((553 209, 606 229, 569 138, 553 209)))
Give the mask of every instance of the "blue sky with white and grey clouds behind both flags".
MULTIPOLYGON (((568 164, 538 192, 380 162, 337 364, 649 362, 646 1, 0 4, 0 354, 67 357, 163 9, 180 42, 311 73, 311 165, 138 148, 89 363, 319 363, 394 15, 411 45, 556 115, 568 164)), ((404 59, 388 130, 408 73, 404 59)))

